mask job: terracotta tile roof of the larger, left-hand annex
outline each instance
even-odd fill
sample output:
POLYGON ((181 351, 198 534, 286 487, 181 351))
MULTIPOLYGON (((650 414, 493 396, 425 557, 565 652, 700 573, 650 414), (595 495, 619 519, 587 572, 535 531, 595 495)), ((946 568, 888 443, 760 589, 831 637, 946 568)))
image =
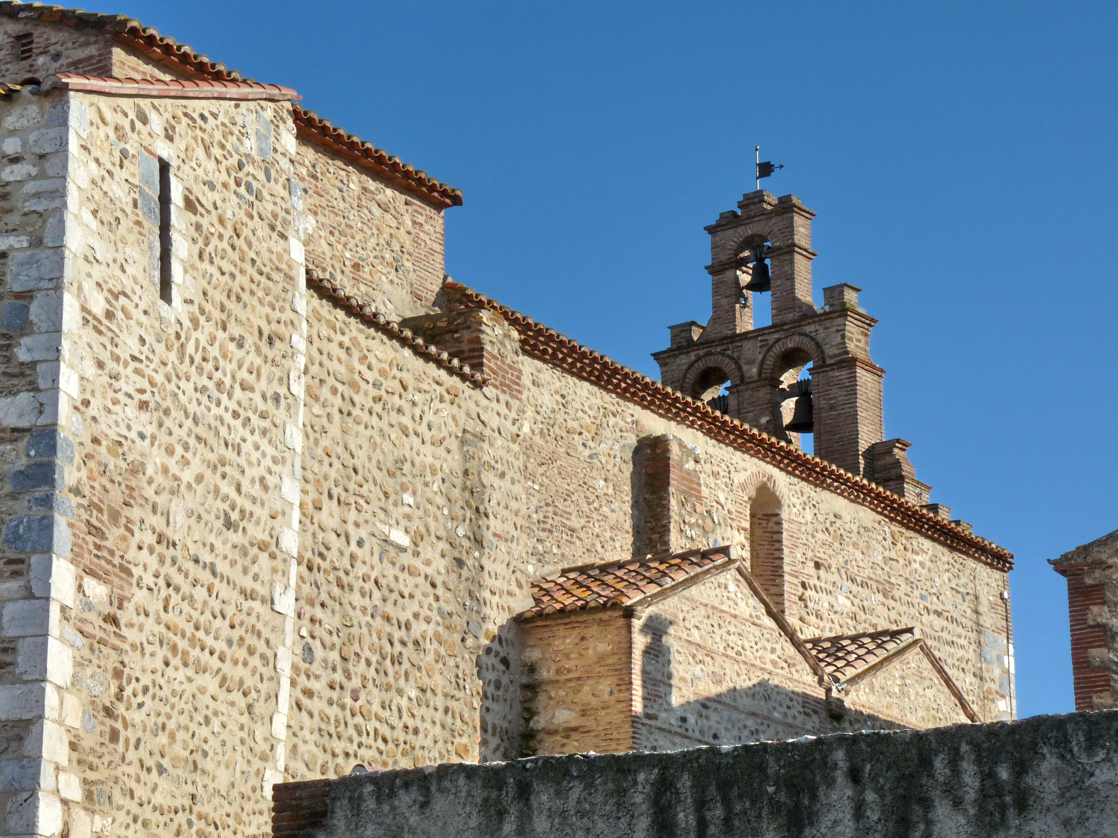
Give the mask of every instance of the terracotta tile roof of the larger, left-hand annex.
POLYGON ((631 606, 700 573, 728 568, 730 547, 709 547, 684 553, 662 553, 644 559, 566 568, 532 582, 534 604, 517 619, 543 617, 560 611, 631 606))

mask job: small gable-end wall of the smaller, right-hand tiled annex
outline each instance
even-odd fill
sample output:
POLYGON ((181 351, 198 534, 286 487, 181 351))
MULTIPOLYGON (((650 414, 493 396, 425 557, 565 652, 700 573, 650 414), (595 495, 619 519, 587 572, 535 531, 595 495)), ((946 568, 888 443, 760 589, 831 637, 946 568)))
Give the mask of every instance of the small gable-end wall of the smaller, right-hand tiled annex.
MULTIPOLYGON (((859 682, 844 695, 849 712, 903 727, 938 727, 969 720, 928 658, 919 650, 859 682)), ((873 727, 892 726, 889 724, 873 727)))

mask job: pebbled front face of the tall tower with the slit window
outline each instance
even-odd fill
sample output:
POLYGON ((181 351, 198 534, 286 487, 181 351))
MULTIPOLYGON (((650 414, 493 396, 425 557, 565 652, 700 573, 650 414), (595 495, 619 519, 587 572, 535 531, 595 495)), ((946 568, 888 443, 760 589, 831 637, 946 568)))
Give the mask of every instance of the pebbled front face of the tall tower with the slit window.
POLYGON ((295 550, 290 111, 78 98, 72 764, 94 831, 258 835, 283 769, 295 550), (143 153, 170 160, 176 182, 171 306, 149 259, 143 153))

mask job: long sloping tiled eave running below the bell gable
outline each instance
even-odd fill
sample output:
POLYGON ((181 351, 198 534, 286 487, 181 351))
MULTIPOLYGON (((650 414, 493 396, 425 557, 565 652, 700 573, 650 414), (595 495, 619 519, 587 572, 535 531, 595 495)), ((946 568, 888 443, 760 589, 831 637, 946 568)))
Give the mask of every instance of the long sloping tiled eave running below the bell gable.
POLYGON ((805 454, 776 437, 728 417, 678 390, 672 390, 660 381, 594 352, 567 335, 490 299, 462 283, 447 282, 444 287, 462 294, 476 305, 499 312, 520 332, 522 351, 547 363, 821 488, 835 492, 996 570, 1013 569, 1013 553, 1005 547, 932 515, 861 475, 805 454))

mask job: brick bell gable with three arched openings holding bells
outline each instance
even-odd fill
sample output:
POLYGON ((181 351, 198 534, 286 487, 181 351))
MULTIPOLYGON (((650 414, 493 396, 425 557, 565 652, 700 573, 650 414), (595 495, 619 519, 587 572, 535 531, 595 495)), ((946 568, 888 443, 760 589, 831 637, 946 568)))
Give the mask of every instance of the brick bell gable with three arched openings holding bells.
POLYGON ((661 381, 793 445, 814 432, 816 456, 927 504, 909 444, 884 442, 885 371, 870 359, 878 321, 859 307, 861 288, 834 285, 823 306, 813 301, 814 217, 795 196, 760 190, 705 228, 711 316, 669 327, 671 346, 653 353, 661 381), (771 294, 773 322, 754 328, 760 293, 771 294))

